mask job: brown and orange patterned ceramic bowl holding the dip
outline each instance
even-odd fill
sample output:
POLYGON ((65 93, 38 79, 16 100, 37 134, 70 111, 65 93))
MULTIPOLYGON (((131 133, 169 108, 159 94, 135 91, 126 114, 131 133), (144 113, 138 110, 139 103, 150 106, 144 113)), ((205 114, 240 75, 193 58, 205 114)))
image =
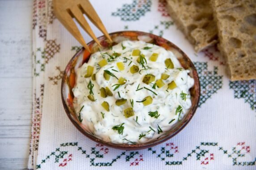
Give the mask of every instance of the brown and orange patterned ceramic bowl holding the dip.
MULTIPOLYGON (((100 143, 102 145, 106 145, 116 149, 125 149, 125 150, 136 150, 136 149, 145 149, 148 147, 152 147, 154 145, 158 145, 171 137, 174 137, 177 133, 179 133, 192 119, 192 116, 196 112, 196 108, 198 106, 198 102, 200 99, 200 82, 198 78, 198 74, 196 72, 196 68, 188 58, 188 56, 179 49, 179 47, 175 46, 170 41, 156 36, 151 33, 144 33, 139 31, 121 31, 110 33, 110 36, 113 42, 110 42, 106 39, 106 37, 101 36, 98 37, 102 47, 99 47, 95 41, 90 41, 88 46, 90 47, 91 53, 94 53, 98 50, 104 50, 105 48, 109 48, 124 40, 141 40, 149 43, 153 43, 158 46, 162 46, 166 50, 172 51, 178 58, 179 62, 183 66, 183 68, 190 70, 190 76, 195 80, 194 86, 190 89, 192 107, 189 109, 187 114, 183 117, 183 119, 172 126, 172 128, 165 132, 161 137, 155 139, 153 141, 149 141, 146 143, 129 145, 129 144, 115 144, 111 142, 103 141, 95 136, 93 136, 87 129, 86 126, 81 124, 76 115, 75 109, 73 107, 73 92, 72 88, 75 86, 76 82, 76 71, 83 63, 88 62, 90 58, 90 53, 86 51, 84 48, 79 50, 68 62, 64 70, 64 76, 61 83, 61 98, 62 103, 65 109, 65 112, 68 115, 68 118, 74 124, 74 126, 86 137, 90 138, 92 141, 100 143)), ((92 113, 93 114, 93 113, 92 113)))

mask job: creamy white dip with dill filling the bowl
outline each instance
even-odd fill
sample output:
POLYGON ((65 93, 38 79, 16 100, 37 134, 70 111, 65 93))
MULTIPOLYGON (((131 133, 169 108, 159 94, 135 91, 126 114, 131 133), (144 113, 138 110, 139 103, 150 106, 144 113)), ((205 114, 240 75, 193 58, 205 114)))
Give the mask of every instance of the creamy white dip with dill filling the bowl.
MULTIPOLYGON (((92 54, 89 62, 77 69, 76 85, 73 88, 77 116, 86 129, 104 141, 135 144, 156 139, 180 121, 191 107, 189 89, 194 85, 194 79, 188 73, 171 51, 144 41, 120 42, 110 50, 92 54), (133 56, 132 53, 136 51, 143 55, 133 56), (153 53, 158 55, 156 61, 150 60, 153 53), (144 63, 138 63, 137 58, 144 56, 144 63), (167 69, 171 67, 170 63, 168 66, 165 64, 167 58, 171 59, 174 68, 167 69), (100 67, 98 63, 102 59, 107 60, 107 65, 100 67), (124 70, 117 66, 118 62, 123 63, 124 70), (133 65, 138 66, 140 71, 132 74, 130 67, 133 65), (96 80, 87 74, 88 66, 94 67, 96 80), (110 76, 109 80, 104 78, 104 70, 113 74, 110 76, 105 73, 110 76), (162 79, 164 85, 158 88, 154 83, 161 79, 162 74, 170 76, 166 80, 162 79), (149 84, 143 83, 145 75, 154 75, 155 80, 149 84), (127 82, 118 87, 121 77, 127 82), (169 83, 171 86, 168 88, 169 83), (102 87, 108 87, 113 95, 102 97, 102 87), (95 101, 89 100, 88 95, 93 95, 95 101), (145 101, 141 101, 147 96, 151 96, 153 102, 144 105, 145 101), (125 103, 118 106, 115 102, 119 99, 127 101, 123 100, 125 103), (104 101, 109 104, 109 111, 102 107, 104 101), (133 110, 133 113, 129 112, 130 117, 124 115, 127 108, 133 110)), ((150 103, 149 100, 146 102, 150 103)))

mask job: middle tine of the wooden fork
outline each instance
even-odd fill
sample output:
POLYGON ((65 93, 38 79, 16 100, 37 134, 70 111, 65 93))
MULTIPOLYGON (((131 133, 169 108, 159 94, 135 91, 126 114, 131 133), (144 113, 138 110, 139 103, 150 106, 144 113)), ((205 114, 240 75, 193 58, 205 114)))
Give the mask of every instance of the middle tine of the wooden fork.
POLYGON ((86 31, 86 33, 88 33, 90 35, 90 37, 92 37, 93 40, 99 46, 101 46, 100 42, 98 41, 97 37, 95 36, 95 34, 94 34, 93 30, 91 29, 90 25, 85 20, 85 17, 83 16, 83 13, 81 12, 81 10, 78 7, 76 7, 76 5, 74 5, 70 10, 71 10, 71 12, 73 14, 73 17, 76 18, 76 20, 79 23, 79 25, 81 25, 81 27, 86 31))

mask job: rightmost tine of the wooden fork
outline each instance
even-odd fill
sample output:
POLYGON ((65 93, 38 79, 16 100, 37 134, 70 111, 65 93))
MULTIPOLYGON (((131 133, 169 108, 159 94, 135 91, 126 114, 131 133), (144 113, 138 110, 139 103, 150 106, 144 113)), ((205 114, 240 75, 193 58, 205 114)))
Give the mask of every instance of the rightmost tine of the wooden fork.
POLYGON ((78 4, 79 8, 85 15, 92 21, 92 23, 107 37, 109 41, 112 42, 111 37, 107 33, 105 26, 103 25, 101 19, 98 17, 97 12, 89 0, 83 0, 81 4, 78 4))

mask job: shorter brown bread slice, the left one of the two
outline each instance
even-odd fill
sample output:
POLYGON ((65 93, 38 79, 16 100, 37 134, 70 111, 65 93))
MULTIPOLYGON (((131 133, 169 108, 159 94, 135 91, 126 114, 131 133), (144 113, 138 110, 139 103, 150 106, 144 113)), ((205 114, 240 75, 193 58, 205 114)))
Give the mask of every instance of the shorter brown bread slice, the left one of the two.
POLYGON ((167 10, 196 52, 217 43, 210 0, 167 0, 167 10))

